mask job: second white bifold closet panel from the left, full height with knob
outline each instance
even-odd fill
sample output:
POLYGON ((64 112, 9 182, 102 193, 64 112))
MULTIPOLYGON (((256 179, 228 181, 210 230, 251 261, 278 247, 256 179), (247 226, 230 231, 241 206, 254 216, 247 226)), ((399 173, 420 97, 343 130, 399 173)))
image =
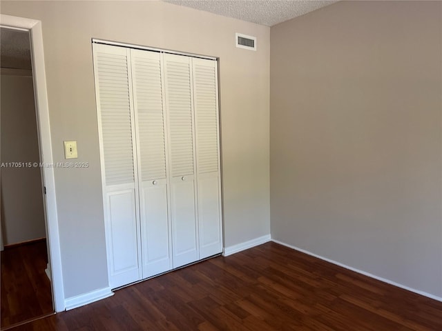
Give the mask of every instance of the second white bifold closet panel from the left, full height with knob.
POLYGON ((142 278, 171 270, 162 54, 131 50, 140 181, 142 278))

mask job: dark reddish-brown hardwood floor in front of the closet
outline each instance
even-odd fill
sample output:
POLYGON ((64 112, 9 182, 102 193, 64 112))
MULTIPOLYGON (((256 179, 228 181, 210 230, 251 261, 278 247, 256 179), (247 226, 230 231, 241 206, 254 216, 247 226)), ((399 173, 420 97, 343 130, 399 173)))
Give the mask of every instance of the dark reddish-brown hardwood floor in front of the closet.
POLYGON ((14 330, 442 330, 442 303, 276 243, 14 330))

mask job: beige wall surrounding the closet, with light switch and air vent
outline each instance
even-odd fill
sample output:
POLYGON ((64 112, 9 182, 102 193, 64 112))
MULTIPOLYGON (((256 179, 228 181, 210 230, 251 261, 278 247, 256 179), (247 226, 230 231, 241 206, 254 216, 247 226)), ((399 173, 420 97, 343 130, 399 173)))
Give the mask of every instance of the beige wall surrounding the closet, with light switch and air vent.
POLYGON ((158 1, 1 1, 42 22, 52 148, 77 140, 88 169, 56 169, 65 296, 108 285, 90 39, 220 57, 224 241, 269 234, 269 28, 158 1), (235 48, 235 32, 258 51, 235 48))

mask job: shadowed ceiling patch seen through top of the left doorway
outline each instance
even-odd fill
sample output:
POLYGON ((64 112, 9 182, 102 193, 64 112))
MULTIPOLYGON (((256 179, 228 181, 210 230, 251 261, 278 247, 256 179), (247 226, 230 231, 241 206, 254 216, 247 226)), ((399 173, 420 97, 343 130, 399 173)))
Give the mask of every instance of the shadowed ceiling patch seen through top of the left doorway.
POLYGON ((1 68, 32 68, 29 32, 0 28, 0 65, 1 68))

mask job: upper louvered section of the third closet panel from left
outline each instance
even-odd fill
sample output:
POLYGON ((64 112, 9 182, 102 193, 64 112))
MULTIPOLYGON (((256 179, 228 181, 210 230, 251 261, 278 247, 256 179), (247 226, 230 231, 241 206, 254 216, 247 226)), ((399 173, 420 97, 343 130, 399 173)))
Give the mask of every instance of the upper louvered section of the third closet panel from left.
POLYGON ((191 67, 189 57, 164 54, 169 113, 171 175, 193 174, 191 67))

